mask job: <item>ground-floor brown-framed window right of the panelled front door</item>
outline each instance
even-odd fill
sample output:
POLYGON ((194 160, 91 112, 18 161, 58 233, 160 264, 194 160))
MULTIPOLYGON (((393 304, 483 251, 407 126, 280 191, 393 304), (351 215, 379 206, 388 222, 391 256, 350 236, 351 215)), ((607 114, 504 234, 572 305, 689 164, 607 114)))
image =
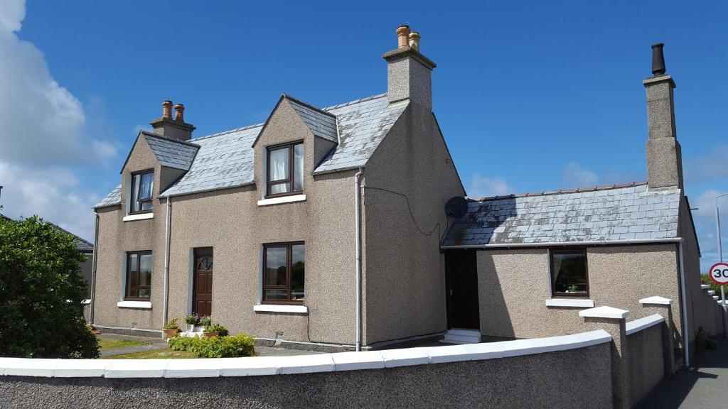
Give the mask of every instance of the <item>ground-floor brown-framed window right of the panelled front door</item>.
POLYGON ((304 301, 306 249, 303 243, 264 245, 263 302, 304 301))

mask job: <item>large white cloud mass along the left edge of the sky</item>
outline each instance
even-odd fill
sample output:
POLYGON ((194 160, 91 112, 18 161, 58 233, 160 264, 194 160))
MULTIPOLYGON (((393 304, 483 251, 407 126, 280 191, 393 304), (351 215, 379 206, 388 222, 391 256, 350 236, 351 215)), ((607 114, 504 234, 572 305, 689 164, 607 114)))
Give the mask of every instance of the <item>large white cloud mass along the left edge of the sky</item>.
MULTIPOLYGON (((91 206, 71 166, 100 165, 116 156, 111 143, 89 135, 82 103, 53 79, 43 53, 17 32, 24 0, 0 0, 0 186, 4 214, 40 215, 93 239, 91 206)), ((93 124, 99 127, 99 124, 93 124)))

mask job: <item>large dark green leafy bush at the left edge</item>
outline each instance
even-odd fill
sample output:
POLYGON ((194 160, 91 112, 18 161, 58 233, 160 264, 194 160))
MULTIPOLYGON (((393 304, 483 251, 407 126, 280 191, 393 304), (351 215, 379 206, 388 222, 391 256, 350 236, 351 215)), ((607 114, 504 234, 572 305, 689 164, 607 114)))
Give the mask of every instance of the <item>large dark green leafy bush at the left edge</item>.
POLYGON ((37 216, 0 218, 1 355, 98 357, 83 317, 85 260, 71 235, 37 216))

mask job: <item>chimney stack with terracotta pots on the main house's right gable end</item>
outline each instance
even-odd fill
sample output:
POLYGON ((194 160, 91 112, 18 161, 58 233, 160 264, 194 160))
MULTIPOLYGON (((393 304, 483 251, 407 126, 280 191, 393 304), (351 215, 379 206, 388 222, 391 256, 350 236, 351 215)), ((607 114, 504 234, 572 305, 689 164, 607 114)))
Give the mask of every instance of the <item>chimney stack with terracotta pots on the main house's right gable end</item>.
POLYGON ((429 58, 419 52, 419 33, 400 25, 397 48, 384 54, 387 60, 387 98, 389 103, 409 100, 432 111, 432 68, 429 58))

